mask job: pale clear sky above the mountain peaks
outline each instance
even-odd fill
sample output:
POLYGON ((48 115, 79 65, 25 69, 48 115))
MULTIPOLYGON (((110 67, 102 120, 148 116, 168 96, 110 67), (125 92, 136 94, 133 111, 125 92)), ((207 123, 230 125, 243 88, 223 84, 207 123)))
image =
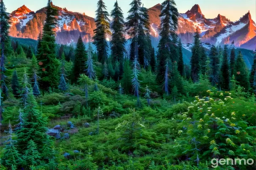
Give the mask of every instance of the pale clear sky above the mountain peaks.
MULTIPOLYGON (((94 17, 98 0, 53 0, 53 4, 59 7, 66 7, 69 11, 85 13, 94 17)), ((107 10, 113 9, 116 0, 104 0, 107 10)), ((119 6, 127 17, 132 0, 118 0, 119 6)), ((145 7, 150 8, 164 0, 142 0, 145 7)), ((8 12, 16 10, 22 5, 26 5, 30 10, 37 11, 46 6, 47 0, 4 0, 8 12)), ((256 0, 176 0, 180 13, 190 10, 194 4, 198 4, 206 18, 215 18, 220 13, 231 21, 237 21, 250 10, 252 19, 256 21, 256 0)))

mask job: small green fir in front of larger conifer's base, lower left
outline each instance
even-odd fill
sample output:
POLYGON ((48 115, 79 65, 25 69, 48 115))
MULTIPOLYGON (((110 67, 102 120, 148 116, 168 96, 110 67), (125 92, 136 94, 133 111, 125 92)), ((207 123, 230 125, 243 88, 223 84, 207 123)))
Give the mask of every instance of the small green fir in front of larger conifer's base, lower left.
POLYGON ((26 165, 38 165, 40 163, 40 154, 37 150, 37 145, 33 140, 28 142, 27 150, 25 151, 25 155, 23 155, 23 159, 26 165))

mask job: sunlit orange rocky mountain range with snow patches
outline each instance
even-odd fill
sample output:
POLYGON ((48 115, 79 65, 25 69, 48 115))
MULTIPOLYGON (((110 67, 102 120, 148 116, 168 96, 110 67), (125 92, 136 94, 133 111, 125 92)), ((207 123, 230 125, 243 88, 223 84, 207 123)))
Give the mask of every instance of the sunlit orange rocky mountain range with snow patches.
MULTIPOLYGON (((94 36, 93 30, 96 28, 94 18, 86 16, 85 13, 54 7, 58 9, 58 23, 55 28, 58 44, 75 43, 80 34, 84 42, 88 42, 94 36)), ((149 8, 150 34, 153 41, 155 39, 156 42, 159 39, 157 30, 160 25, 160 11, 161 4, 149 8)), ((34 12, 25 5, 21 6, 11 13, 10 36, 36 40, 39 32, 42 31, 45 17, 45 8, 34 12)), ((216 18, 208 19, 196 4, 186 13, 180 13, 178 21, 177 33, 184 44, 193 42, 193 34, 199 27, 201 41, 206 44, 231 44, 234 40, 236 47, 255 50, 256 24, 251 19, 250 11, 236 22, 232 22, 220 14, 216 18)))

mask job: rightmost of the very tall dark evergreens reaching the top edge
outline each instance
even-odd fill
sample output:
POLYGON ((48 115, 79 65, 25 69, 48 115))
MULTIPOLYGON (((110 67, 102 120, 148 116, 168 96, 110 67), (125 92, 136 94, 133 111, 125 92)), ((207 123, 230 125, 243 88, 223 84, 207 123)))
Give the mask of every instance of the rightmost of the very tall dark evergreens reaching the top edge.
POLYGON ((157 79, 161 83, 165 77, 165 62, 167 59, 178 61, 178 53, 176 50, 177 28, 178 28, 178 10, 175 7, 174 0, 165 0, 161 6, 161 23, 159 35, 161 39, 158 44, 158 75, 157 79))

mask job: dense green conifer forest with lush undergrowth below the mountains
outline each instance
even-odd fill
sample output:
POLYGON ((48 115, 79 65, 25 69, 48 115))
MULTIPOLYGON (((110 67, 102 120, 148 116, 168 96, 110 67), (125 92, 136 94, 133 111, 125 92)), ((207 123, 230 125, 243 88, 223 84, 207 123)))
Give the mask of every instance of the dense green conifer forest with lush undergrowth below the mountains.
POLYGON ((33 46, 9 37, 0 1, 0 170, 255 169, 256 51, 248 67, 246 50, 208 51, 197 28, 188 61, 174 0, 157 49, 141 0, 126 19, 98 0, 94 36, 75 47, 56 44, 51 0, 45 13, 33 46), (250 161, 212 162, 235 158, 250 161))

